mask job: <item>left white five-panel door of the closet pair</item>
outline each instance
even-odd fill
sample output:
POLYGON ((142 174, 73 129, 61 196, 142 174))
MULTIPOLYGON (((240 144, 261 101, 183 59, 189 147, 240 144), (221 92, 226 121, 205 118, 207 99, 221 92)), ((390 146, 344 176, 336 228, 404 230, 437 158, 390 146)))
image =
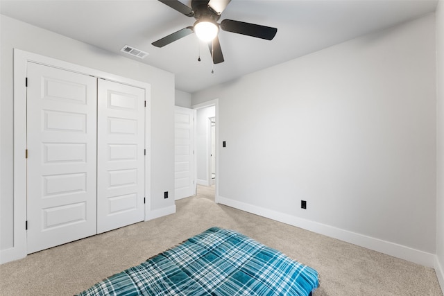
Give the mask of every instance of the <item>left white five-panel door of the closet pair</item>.
POLYGON ((96 78, 28 62, 27 252, 96 234, 96 78))

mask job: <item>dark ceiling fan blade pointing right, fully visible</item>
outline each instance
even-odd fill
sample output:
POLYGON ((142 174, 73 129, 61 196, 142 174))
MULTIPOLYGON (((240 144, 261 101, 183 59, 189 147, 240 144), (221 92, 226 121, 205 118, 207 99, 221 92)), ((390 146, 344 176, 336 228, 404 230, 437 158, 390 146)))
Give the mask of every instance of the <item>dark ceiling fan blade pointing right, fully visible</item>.
POLYGON ((272 40, 275 37, 276 32, 278 32, 277 28, 244 23, 244 21, 233 21, 232 19, 224 19, 221 21, 221 29, 223 31, 244 34, 266 40, 272 40))

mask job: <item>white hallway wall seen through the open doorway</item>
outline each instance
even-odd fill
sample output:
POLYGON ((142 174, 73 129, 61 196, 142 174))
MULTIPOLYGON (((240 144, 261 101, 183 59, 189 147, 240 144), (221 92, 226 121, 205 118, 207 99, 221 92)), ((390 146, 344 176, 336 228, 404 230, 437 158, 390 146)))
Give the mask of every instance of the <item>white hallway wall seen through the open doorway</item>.
POLYGON ((209 186, 210 179, 210 117, 216 116, 216 107, 198 109, 196 112, 196 173, 198 184, 209 186))

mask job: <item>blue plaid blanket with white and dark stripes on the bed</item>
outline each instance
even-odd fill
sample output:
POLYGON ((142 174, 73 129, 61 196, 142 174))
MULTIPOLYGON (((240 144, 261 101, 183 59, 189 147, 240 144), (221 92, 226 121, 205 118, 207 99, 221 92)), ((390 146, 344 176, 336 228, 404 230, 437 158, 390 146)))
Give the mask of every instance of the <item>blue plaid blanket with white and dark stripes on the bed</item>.
POLYGON ((87 295, 310 295, 318 272, 228 229, 212 227, 112 275, 87 295))

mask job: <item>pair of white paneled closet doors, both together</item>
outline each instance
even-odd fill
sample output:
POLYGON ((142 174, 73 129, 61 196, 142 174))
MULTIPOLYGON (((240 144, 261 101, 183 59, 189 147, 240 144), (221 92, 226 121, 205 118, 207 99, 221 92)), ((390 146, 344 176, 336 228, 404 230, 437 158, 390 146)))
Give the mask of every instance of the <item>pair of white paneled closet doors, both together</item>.
POLYGON ((145 90, 28 62, 27 251, 144 220, 145 90))

